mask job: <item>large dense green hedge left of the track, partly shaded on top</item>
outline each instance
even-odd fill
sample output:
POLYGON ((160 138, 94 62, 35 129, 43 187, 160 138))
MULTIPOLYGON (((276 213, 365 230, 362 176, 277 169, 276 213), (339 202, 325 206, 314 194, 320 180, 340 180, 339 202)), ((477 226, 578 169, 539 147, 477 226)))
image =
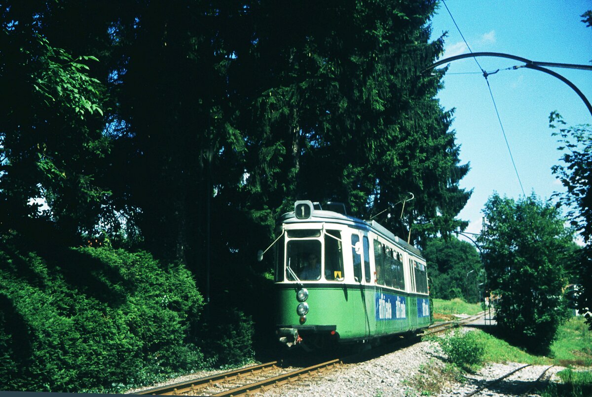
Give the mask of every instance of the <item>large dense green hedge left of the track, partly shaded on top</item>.
POLYGON ((0 389, 117 390, 204 365, 191 274, 146 252, 0 248, 0 389))

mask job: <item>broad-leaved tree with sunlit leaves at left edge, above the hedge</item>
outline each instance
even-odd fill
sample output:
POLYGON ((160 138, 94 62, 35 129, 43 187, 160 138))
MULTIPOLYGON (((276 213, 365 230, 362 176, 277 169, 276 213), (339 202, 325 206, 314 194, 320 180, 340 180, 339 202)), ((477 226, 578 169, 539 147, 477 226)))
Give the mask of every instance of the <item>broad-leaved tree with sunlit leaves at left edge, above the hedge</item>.
POLYGON ((110 150, 101 134, 104 84, 89 74, 93 56, 75 56, 44 32, 41 3, 4 4, 0 12, 2 227, 44 216, 73 235, 96 230, 110 190, 96 168, 110 150), (44 199, 50 209, 38 212, 44 199))

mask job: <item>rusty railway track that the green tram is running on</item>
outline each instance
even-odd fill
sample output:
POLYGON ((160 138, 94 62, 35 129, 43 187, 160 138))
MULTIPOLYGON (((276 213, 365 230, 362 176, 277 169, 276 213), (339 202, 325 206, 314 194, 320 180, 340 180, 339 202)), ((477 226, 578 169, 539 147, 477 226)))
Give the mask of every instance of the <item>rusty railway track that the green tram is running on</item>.
MULTIPOLYGON (((423 335, 439 333, 448 330, 449 328, 470 323, 481 315, 483 315, 483 313, 456 321, 433 324, 424 331, 423 335)), ((387 352, 382 352, 382 354, 385 353, 387 352)), ((364 354, 362 353, 361 356, 363 355, 364 354)), ((284 385, 285 383, 304 378, 305 376, 313 376, 317 373, 339 366, 343 362, 356 362, 356 360, 352 359, 352 357, 342 360, 334 359, 296 370, 282 368, 277 361, 272 361, 219 373, 217 375, 206 376, 205 378, 192 379, 187 382, 174 383, 172 385, 134 392, 134 394, 240 396, 250 392, 265 391, 266 389, 284 385)))

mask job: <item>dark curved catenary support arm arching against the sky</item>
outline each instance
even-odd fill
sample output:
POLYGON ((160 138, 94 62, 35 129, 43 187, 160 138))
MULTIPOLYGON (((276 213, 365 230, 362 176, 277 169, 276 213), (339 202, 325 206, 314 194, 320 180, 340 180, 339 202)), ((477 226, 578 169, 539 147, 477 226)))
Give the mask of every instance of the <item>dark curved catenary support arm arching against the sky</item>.
MULTIPOLYGON (((473 58, 473 57, 499 57, 499 58, 513 59, 513 60, 525 63, 525 65, 519 66, 519 67, 527 67, 528 69, 534 69, 534 70, 542 71, 547 74, 551 74, 551 76, 556 77, 557 79, 561 80, 562 82, 564 82, 565 84, 570 86, 571 89, 574 90, 578 96, 580 96, 580 99, 584 101, 586 108, 588 108, 588 112, 590 112, 590 115, 592 116, 592 105, 590 105, 590 101, 588 101, 588 99, 585 97, 585 95, 580 91, 580 89, 578 89, 578 87, 575 86, 574 83, 570 82, 570 80, 561 76, 561 74, 555 73, 552 70, 542 67, 542 66, 551 66, 551 67, 565 67, 565 68, 569 68, 569 69, 592 70, 592 66, 577 65, 577 64, 570 64, 570 63, 531 61, 531 60, 523 58, 523 57, 518 57, 515 55, 504 54, 504 53, 469 53, 469 54, 461 54, 461 55, 457 55, 454 57, 449 57, 449 58, 439 60, 436 63, 433 63, 430 66, 426 67, 426 69, 424 69, 423 71, 432 70, 435 67, 438 67, 438 66, 446 64, 446 63, 450 63, 452 61, 458 61, 459 59, 473 58)), ((514 67, 514 68, 517 69, 518 67, 514 67)), ((486 72, 484 72, 484 76, 487 76, 486 72)))

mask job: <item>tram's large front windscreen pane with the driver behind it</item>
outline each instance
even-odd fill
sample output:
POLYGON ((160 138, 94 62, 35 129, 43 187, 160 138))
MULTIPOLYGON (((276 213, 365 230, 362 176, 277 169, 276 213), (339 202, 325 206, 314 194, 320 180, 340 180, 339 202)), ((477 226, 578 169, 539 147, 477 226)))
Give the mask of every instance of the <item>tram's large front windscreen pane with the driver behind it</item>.
POLYGON ((319 240, 289 240, 286 256, 286 277, 294 281, 289 268, 301 280, 321 278, 321 242, 319 240))

